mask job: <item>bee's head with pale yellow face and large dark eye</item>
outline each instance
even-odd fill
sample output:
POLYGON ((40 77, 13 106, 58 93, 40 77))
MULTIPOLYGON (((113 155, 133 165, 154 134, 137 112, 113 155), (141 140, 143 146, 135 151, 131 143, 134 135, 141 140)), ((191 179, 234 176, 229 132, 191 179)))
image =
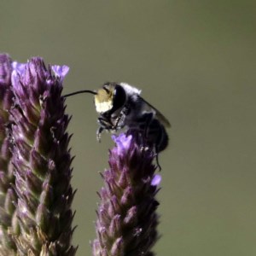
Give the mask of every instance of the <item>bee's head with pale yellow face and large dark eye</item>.
POLYGON ((126 94, 124 88, 115 83, 107 83, 97 90, 95 95, 96 112, 114 112, 125 104, 126 94))

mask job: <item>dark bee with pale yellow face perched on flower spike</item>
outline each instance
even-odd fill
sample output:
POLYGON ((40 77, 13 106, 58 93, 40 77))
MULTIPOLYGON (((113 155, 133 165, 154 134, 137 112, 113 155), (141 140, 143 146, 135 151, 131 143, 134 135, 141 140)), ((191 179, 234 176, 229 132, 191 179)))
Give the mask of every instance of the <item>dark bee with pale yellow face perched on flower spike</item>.
POLYGON ((149 146, 158 154, 168 145, 166 127, 169 121, 141 96, 141 90, 125 83, 105 83, 96 91, 79 90, 67 96, 91 93, 94 97, 96 112, 99 113, 100 127, 96 131, 101 140, 102 131, 118 131, 122 128, 139 131, 149 146))

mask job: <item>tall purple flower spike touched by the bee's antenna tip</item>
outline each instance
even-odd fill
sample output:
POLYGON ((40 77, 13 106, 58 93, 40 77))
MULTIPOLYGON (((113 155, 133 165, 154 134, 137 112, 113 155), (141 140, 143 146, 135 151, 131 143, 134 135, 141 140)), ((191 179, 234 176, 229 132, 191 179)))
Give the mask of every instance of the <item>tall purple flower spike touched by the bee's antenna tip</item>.
POLYGON ((19 255, 74 255, 72 157, 69 117, 61 97, 67 67, 44 66, 41 58, 14 62, 13 143, 16 216, 13 232, 19 255))

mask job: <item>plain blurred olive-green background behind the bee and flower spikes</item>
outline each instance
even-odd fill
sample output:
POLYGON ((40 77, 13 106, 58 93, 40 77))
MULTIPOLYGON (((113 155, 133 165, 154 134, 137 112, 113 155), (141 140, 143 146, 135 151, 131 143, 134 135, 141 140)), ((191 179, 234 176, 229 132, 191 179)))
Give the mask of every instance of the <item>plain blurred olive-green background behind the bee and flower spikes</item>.
MULTIPOLYGON (((1 1, 0 51, 71 67, 64 93, 124 81, 172 123, 160 154, 157 255, 256 255, 256 1, 1 1)), ((98 172, 90 95, 73 115, 73 244, 90 255, 98 172)))

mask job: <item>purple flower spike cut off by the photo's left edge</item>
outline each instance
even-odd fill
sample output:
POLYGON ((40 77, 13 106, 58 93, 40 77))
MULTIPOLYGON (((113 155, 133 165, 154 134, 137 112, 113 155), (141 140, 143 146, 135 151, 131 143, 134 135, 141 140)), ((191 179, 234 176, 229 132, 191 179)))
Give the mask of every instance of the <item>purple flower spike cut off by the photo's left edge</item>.
POLYGON ((7 132, 9 110, 12 106, 11 90, 12 61, 9 55, 0 55, 0 255, 13 255, 16 252, 15 241, 10 232, 15 222, 16 195, 13 185, 15 176, 11 159, 11 143, 7 132))

